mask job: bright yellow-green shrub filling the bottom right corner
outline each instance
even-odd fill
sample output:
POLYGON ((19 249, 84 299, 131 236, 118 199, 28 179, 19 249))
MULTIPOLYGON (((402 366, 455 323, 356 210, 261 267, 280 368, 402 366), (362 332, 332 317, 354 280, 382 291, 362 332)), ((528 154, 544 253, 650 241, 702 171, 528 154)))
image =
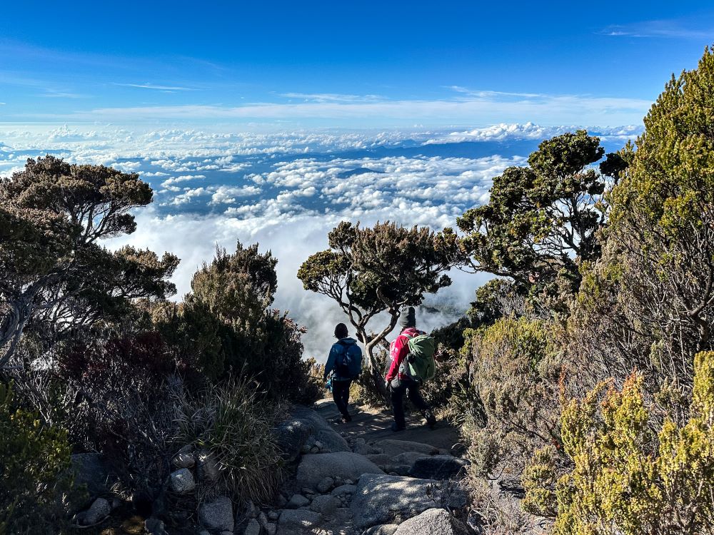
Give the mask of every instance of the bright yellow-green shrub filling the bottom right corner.
POLYGON ((552 514, 555 535, 713 533, 714 352, 698 353, 694 370, 688 421, 665 419, 656 432, 642 374, 567 402, 561 434, 572 469, 553 481, 552 451, 540 449, 526 509, 552 514))

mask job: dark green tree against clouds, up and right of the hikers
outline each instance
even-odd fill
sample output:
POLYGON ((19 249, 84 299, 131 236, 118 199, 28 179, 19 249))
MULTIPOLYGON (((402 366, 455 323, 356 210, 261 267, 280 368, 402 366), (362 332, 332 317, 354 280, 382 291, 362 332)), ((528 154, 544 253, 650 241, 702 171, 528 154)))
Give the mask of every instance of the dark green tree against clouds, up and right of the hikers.
POLYGON ((530 286, 596 258, 605 182, 590 166, 603 153, 599 138, 565 133, 540 143, 528 167, 494 178, 489 203, 458 218, 473 267, 530 286))

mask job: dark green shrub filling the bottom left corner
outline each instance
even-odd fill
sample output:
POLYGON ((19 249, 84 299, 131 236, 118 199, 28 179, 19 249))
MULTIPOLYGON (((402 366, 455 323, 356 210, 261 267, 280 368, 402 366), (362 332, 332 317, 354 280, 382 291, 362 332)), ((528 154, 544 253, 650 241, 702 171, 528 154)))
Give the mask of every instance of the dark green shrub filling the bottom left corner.
POLYGON ((67 524, 72 489, 63 429, 17 407, 0 382, 0 534, 51 534, 67 524))

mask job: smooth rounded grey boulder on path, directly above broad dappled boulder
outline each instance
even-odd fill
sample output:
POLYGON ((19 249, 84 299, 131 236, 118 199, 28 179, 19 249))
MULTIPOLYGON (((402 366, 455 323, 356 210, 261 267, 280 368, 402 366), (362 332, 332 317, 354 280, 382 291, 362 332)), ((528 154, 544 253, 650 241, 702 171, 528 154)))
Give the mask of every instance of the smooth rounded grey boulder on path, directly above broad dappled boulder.
POLYGON ((298 465, 298 486, 315 486, 326 477, 358 479, 362 474, 383 474, 382 470, 365 457, 352 452, 305 455, 298 465))

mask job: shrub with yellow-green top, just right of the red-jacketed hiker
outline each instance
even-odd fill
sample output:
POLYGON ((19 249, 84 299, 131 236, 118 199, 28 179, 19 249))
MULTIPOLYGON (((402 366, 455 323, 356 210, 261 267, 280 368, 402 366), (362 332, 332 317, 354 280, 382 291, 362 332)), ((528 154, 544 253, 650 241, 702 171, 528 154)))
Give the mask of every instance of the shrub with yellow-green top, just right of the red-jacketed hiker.
POLYGON ((560 442, 563 364, 550 339, 551 327, 544 320, 503 317, 466 331, 462 354, 486 416, 486 425, 472 427, 466 437, 473 472, 486 475, 500 467, 519 477, 534 449, 560 442))

